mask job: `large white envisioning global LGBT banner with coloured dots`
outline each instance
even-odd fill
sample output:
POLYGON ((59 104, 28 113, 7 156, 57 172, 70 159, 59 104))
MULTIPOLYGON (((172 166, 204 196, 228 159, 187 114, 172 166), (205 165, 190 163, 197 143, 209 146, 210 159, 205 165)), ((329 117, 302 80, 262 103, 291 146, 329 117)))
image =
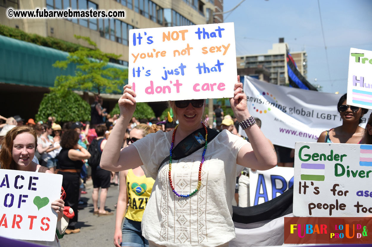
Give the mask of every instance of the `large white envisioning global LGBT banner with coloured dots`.
MULTIPOLYGON (((298 141, 316 142, 321 132, 342 125, 337 111, 341 95, 278 86, 249 76, 244 76, 243 88, 248 111, 261 119, 263 134, 275 145, 294 148, 298 141)), ((362 117, 363 128, 369 113, 362 117)), ((246 136, 241 128, 239 134, 246 136)))

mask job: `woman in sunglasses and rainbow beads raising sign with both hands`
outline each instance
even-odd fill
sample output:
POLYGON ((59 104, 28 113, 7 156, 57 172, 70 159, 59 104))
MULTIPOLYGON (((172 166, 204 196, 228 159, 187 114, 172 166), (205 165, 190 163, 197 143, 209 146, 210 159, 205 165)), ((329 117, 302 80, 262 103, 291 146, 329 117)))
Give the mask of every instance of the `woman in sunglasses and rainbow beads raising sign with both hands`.
POLYGON ((142 166, 155 180, 142 217, 142 236, 149 246, 228 246, 235 238, 232 199, 236 177, 244 167, 266 170, 276 155, 247 109, 239 77, 230 99, 234 115, 251 143, 224 130, 207 128, 205 100, 170 101, 171 132, 156 132, 120 151, 126 126, 135 111, 136 93, 124 86, 120 117, 103 151, 101 167, 122 171, 142 166), (216 133, 217 132, 217 133, 216 133))

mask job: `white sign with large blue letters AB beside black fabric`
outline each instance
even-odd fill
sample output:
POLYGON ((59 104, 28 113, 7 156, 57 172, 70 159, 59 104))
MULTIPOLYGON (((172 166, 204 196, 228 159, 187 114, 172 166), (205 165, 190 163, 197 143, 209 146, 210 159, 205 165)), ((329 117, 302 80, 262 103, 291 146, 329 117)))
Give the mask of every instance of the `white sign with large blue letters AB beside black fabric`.
POLYGON ((272 200, 293 185, 293 167, 274 167, 266 171, 249 172, 250 205, 272 200))

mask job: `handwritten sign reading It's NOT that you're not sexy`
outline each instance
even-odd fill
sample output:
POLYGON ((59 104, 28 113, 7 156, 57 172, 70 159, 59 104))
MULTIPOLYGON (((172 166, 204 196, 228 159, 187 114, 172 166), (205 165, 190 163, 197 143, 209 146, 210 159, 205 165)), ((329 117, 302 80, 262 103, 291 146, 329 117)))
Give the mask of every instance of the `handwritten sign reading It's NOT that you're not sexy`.
POLYGON ((136 102, 229 98, 235 82, 234 23, 129 30, 136 102))

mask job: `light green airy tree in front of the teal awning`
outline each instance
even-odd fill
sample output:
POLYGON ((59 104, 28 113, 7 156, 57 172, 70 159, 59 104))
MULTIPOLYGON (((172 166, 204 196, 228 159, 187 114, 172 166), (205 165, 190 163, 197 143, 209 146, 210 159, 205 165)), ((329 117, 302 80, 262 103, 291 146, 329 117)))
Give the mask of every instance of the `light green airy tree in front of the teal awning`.
POLYGON ((100 94, 101 92, 121 92, 121 86, 128 79, 128 70, 107 67, 109 59, 118 59, 120 56, 112 53, 104 53, 97 48, 96 43, 89 37, 76 36, 76 39, 85 40, 93 49, 79 47, 75 52, 70 52, 67 60, 57 61, 54 67, 66 69, 70 63, 76 65, 75 75, 57 76, 54 82, 55 88, 51 90, 63 91, 76 89, 100 94))

